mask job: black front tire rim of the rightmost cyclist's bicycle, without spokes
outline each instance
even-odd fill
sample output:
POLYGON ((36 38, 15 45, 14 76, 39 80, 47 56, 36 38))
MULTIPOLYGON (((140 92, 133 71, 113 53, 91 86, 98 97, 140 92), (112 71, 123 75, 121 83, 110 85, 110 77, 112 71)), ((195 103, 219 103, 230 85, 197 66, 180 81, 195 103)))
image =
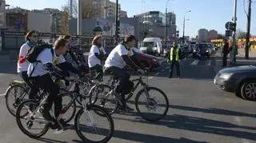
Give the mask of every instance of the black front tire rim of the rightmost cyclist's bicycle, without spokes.
POLYGON ((168 98, 167 98, 167 96, 166 96, 166 93, 164 93, 161 89, 158 89, 158 88, 155 88, 155 87, 147 87, 146 88, 147 89, 147 91, 150 91, 150 90, 156 90, 156 91, 158 91, 159 93, 161 93, 162 94, 162 96, 164 97, 164 99, 165 99, 165 101, 166 101, 166 105, 165 105, 165 111, 159 116, 159 117, 156 117, 156 118, 154 118, 154 119, 152 119, 152 118, 150 118, 150 117, 146 117, 146 116, 144 116, 142 113, 141 113, 141 111, 140 111, 140 109, 138 108, 138 98, 141 96, 141 94, 144 92, 144 89, 141 89, 138 93, 137 93, 137 95, 136 95, 136 97, 135 97, 135 106, 136 106, 136 109, 137 109, 137 112, 140 114, 140 116, 142 117, 142 118, 144 118, 146 121, 158 121, 158 120, 160 120, 160 119, 162 119, 163 117, 165 117, 166 116, 166 113, 168 112, 168 109, 169 109, 169 100, 168 100, 168 98))

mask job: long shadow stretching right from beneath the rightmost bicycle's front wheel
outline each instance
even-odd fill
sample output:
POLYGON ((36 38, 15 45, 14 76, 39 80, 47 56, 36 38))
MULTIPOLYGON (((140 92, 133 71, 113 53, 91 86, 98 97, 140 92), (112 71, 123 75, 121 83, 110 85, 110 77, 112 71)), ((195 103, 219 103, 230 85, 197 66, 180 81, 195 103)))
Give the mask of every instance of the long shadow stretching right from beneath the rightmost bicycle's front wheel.
POLYGON ((234 125, 229 122, 215 121, 212 119, 206 119, 202 117, 190 117, 184 115, 166 115, 164 119, 156 122, 149 122, 142 120, 142 117, 135 117, 135 119, 126 119, 122 117, 114 117, 118 120, 126 120, 138 123, 147 123, 150 125, 165 125, 172 129, 184 129, 201 133, 212 133, 222 136, 245 138, 252 141, 256 141, 256 133, 250 133, 248 131, 241 131, 237 129, 250 129, 256 130, 254 127, 248 127, 243 125, 234 125))

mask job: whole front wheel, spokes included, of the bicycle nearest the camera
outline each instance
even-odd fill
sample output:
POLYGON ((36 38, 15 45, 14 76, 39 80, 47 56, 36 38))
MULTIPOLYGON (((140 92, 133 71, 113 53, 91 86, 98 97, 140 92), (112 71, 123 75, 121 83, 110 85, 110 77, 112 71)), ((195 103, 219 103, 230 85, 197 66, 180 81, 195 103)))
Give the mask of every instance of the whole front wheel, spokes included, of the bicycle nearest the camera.
POLYGON ((75 117, 74 128, 78 133, 78 137, 84 142, 105 143, 110 141, 110 138, 113 137, 114 121, 106 109, 103 109, 98 105, 87 105, 86 111, 84 109, 79 109, 75 117), (82 116, 83 113, 85 113, 85 116, 82 116), (82 117, 86 118, 82 120, 82 117), (98 125, 98 121, 103 120, 107 121, 108 124, 103 122, 101 125, 98 125), (86 123, 82 124, 82 121, 87 121, 87 125, 85 125, 86 123), (92 127, 92 129, 90 129, 90 127, 92 127))

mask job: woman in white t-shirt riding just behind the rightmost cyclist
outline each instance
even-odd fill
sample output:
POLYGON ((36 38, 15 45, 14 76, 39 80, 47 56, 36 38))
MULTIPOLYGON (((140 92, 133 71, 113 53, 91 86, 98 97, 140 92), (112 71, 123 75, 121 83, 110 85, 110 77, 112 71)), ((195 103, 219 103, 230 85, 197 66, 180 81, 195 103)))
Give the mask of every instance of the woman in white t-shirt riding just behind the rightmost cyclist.
POLYGON ((88 65, 90 67, 90 70, 96 70, 97 73, 100 73, 100 77, 102 77, 102 62, 105 60, 106 51, 102 47, 102 36, 95 36, 88 57, 88 65))

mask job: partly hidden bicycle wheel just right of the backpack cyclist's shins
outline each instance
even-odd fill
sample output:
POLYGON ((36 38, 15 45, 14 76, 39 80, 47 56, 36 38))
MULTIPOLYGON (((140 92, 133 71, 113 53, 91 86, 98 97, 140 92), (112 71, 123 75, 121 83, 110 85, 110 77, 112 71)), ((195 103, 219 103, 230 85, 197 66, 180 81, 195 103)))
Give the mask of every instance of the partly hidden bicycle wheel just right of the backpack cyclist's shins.
MULTIPOLYGON (((72 100, 73 100, 72 95, 70 95, 70 94, 63 95, 62 96, 62 106, 66 107, 66 105, 70 104, 70 101, 72 101, 72 100)), ((62 114, 63 120, 66 123, 70 122, 73 119, 76 111, 77 111, 77 105, 74 101, 73 103, 71 103, 70 108, 66 110, 66 113, 62 114)))

